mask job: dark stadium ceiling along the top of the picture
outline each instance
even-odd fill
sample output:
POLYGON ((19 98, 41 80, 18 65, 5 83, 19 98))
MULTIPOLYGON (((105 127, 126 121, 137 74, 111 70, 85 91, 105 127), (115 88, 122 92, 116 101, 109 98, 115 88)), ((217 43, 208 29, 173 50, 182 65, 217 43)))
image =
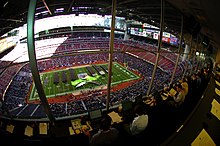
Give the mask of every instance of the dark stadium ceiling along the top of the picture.
MULTIPOLYGON (((181 16, 183 16, 184 39, 189 40, 197 34, 207 38, 210 44, 220 48, 220 1, 219 0, 164 0, 165 30, 179 33, 181 16)), ((27 21, 29 0, 1 0, 0 2, 0 35, 20 26, 27 21)), ((65 8, 64 14, 73 13, 72 7, 92 7, 88 13, 111 14, 111 0, 38 0, 37 10, 47 10, 54 15, 56 8, 65 8)), ((117 0, 117 16, 136 19, 159 27, 161 0, 117 0), (153 21, 152 21, 153 20, 153 21)), ((74 12, 77 13, 77 12, 74 12)), ((79 12, 80 13, 80 12, 79 12)), ((195 40, 195 39, 194 39, 195 40)))

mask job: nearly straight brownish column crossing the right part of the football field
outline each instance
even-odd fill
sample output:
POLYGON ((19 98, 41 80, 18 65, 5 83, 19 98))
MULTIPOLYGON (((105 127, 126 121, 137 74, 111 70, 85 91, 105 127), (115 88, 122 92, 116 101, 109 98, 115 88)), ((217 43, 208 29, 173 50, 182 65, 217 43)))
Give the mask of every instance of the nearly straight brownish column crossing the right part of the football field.
POLYGON ((113 56, 114 38, 115 38, 115 15, 116 15, 116 0, 112 0, 112 22, 111 22, 110 44, 109 44, 108 84, 107 84, 107 99, 106 99, 107 111, 109 110, 109 101, 110 101, 110 92, 111 92, 112 56, 113 56))

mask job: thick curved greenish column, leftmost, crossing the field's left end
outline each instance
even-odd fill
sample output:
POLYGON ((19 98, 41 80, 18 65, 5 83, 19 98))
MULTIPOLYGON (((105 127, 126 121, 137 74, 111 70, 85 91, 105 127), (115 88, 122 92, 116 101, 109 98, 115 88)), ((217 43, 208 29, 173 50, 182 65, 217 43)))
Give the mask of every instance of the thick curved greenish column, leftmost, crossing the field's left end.
POLYGON ((28 8, 28 19, 27 19, 28 57, 30 61, 30 67, 31 67, 33 80, 34 80, 39 98, 41 100, 41 104, 50 122, 54 123, 55 118, 53 117, 53 114, 50 110, 47 98, 44 93, 43 86, 41 84, 39 71, 37 68, 37 60, 36 60, 35 45, 34 45, 34 16, 35 16, 36 3, 37 3, 37 0, 30 0, 29 8, 28 8))

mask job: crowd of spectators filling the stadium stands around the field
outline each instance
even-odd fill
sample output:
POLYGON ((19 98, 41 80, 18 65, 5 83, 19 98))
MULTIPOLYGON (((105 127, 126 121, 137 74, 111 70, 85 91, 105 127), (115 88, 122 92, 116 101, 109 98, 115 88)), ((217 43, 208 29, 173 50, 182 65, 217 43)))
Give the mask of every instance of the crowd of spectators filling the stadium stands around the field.
MULTIPOLYGON (((47 47, 48 46, 43 46, 41 48, 36 48, 36 50, 43 51, 51 48, 47 47)), ((51 58, 38 61, 37 66, 40 72, 45 72, 58 68, 93 64, 96 62, 106 62, 108 60, 108 53, 105 52, 99 52, 96 54, 67 54, 73 51, 85 51, 88 49, 108 50, 108 48, 109 38, 107 37, 69 37, 64 43, 59 45, 51 58), (57 55, 64 56, 57 57, 57 55)), ((128 69, 140 73, 141 76, 143 76, 144 78, 139 82, 132 84, 122 90, 112 92, 110 94, 111 107, 119 105, 120 102, 123 100, 134 100, 137 96, 146 95, 154 68, 154 62, 150 62, 147 58, 143 58, 142 53, 135 54, 135 51, 132 52, 132 50, 156 50, 156 46, 154 45, 138 42, 135 40, 124 41, 121 38, 116 38, 114 48, 115 50, 121 51, 115 52, 113 54, 114 61, 122 64, 126 63, 128 69)), ((166 57, 166 55, 162 56, 166 57)), ((163 66, 163 64, 161 65, 163 66)), ((30 94, 30 89, 33 83, 29 64, 20 64, 18 66, 12 67, 13 69, 7 68, 7 70, 1 74, 1 80, 3 80, 1 82, 1 90, 2 92, 7 91, 4 96, 4 104, 7 105, 11 114, 15 116, 21 116, 25 114, 29 114, 25 116, 32 117, 45 116, 45 113, 42 111, 43 108, 41 105, 27 102, 27 97, 30 94), (6 86, 8 85, 10 86, 6 88, 6 86), (32 111, 30 111, 30 109, 32 109, 32 111), (29 110, 29 112, 27 112, 27 110, 29 110)), ((163 89, 163 85, 168 82, 170 78, 171 76, 168 72, 166 72, 166 70, 158 68, 156 71, 151 92, 163 89)), ((175 76, 175 80, 178 80, 179 78, 179 75, 175 76)), ((93 108, 105 108, 106 96, 107 95, 97 95, 93 93, 90 94, 90 96, 88 96, 87 98, 81 98, 81 100, 71 100, 69 102, 62 103, 50 103, 50 108, 54 115, 57 117, 75 115, 78 113, 87 112, 88 110, 91 110, 93 108)))

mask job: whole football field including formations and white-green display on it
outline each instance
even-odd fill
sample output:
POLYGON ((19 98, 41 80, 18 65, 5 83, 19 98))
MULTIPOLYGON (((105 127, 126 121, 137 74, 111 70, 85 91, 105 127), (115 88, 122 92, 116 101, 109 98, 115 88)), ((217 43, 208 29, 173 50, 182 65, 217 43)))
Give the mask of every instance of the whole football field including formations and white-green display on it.
MULTIPOLYGON (((107 86, 108 64, 93 64, 54 70, 40 74, 47 98, 79 93, 82 90, 100 89, 107 86)), ((117 62, 112 64, 111 86, 139 79, 140 77, 117 62)), ((33 85, 29 100, 38 100, 33 85)))

